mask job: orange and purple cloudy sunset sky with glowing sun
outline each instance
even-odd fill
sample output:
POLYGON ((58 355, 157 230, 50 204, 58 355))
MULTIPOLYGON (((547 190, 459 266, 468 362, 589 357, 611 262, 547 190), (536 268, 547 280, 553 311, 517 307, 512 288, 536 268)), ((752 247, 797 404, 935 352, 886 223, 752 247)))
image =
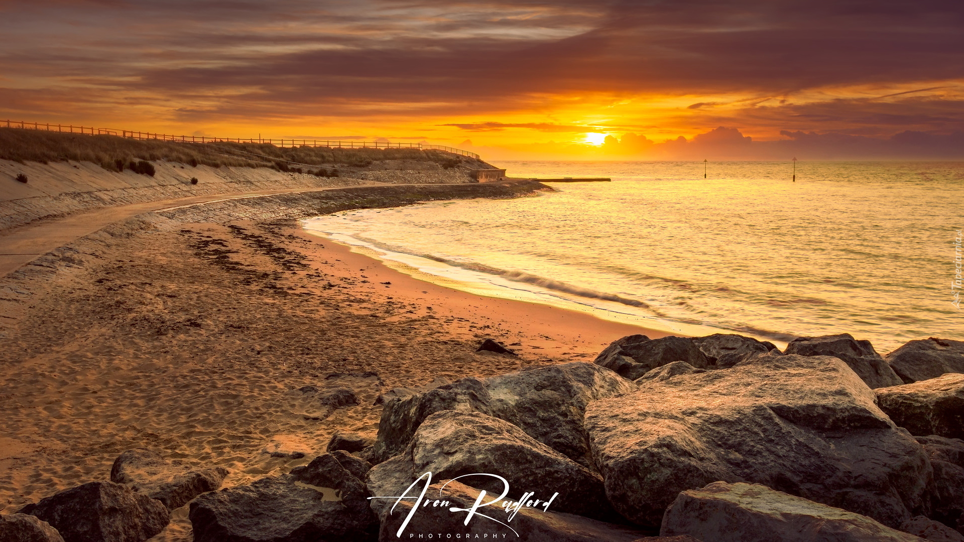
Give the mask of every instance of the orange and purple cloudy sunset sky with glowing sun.
POLYGON ((960 0, 0 0, 0 120, 491 159, 964 159, 960 0))

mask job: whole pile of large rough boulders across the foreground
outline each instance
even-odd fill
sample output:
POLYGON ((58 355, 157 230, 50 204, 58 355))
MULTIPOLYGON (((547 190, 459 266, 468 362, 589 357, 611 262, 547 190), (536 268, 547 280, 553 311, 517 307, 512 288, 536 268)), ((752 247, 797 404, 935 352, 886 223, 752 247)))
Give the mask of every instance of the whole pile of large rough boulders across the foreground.
POLYGON ((140 542, 187 501, 198 542, 964 541, 964 374, 871 389, 889 358, 847 335, 630 336, 594 364, 388 391, 374 443, 338 433, 220 491, 219 470, 131 450, 122 484, 3 516, 0 541, 140 542))

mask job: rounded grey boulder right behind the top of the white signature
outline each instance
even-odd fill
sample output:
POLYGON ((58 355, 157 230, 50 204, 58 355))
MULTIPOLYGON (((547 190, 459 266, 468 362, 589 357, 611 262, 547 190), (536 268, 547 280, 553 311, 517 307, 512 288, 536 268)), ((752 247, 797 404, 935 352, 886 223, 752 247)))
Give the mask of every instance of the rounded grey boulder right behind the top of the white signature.
MULTIPOLYGON (((602 521, 619 515, 606 500, 603 478, 554 449, 526 435, 507 421, 478 413, 438 412, 415 432, 412 448, 415 475, 437 479, 467 474, 495 474, 515 493, 558 493, 552 508, 602 521)), ((462 480, 497 494, 503 483, 490 476, 462 480)), ((514 493, 514 494, 515 494, 514 493)), ((538 498, 540 495, 537 495, 538 498)))

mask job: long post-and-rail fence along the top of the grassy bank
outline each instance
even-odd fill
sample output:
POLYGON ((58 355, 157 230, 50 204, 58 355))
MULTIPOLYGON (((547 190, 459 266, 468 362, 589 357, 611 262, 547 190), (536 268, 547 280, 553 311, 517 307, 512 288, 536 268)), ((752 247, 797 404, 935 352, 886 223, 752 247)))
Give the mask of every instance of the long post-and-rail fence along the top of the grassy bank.
POLYGON ((444 145, 428 145, 423 143, 389 143, 387 141, 329 141, 318 139, 263 139, 263 138, 230 138, 230 137, 209 137, 209 136, 178 136, 169 134, 157 134, 152 132, 140 132, 133 130, 120 130, 115 128, 93 128, 90 126, 74 126, 72 124, 51 124, 49 122, 23 122, 23 121, 0 121, 0 125, 6 123, 8 128, 23 128, 29 130, 45 130, 49 132, 65 132, 72 134, 87 135, 113 135, 130 139, 140 140, 160 140, 174 141, 179 143, 258 143, 276 145, 278 147, 330 147, 338 149, 421 149, 421 150, 444 150, 454 154, 462 154, 479 159, 479 155, 468 150, 445 147, 444 145))

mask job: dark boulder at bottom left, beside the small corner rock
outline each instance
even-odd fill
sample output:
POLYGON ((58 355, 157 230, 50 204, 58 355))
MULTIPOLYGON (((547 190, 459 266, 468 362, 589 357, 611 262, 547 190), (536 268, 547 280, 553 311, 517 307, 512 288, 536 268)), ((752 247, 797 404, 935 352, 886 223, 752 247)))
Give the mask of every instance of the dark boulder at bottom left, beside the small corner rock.
POLYGON ((56 528, 68 542, 144 542, 164 530, 161 503, 114 482, 90 482, 20 508, 56 528))

